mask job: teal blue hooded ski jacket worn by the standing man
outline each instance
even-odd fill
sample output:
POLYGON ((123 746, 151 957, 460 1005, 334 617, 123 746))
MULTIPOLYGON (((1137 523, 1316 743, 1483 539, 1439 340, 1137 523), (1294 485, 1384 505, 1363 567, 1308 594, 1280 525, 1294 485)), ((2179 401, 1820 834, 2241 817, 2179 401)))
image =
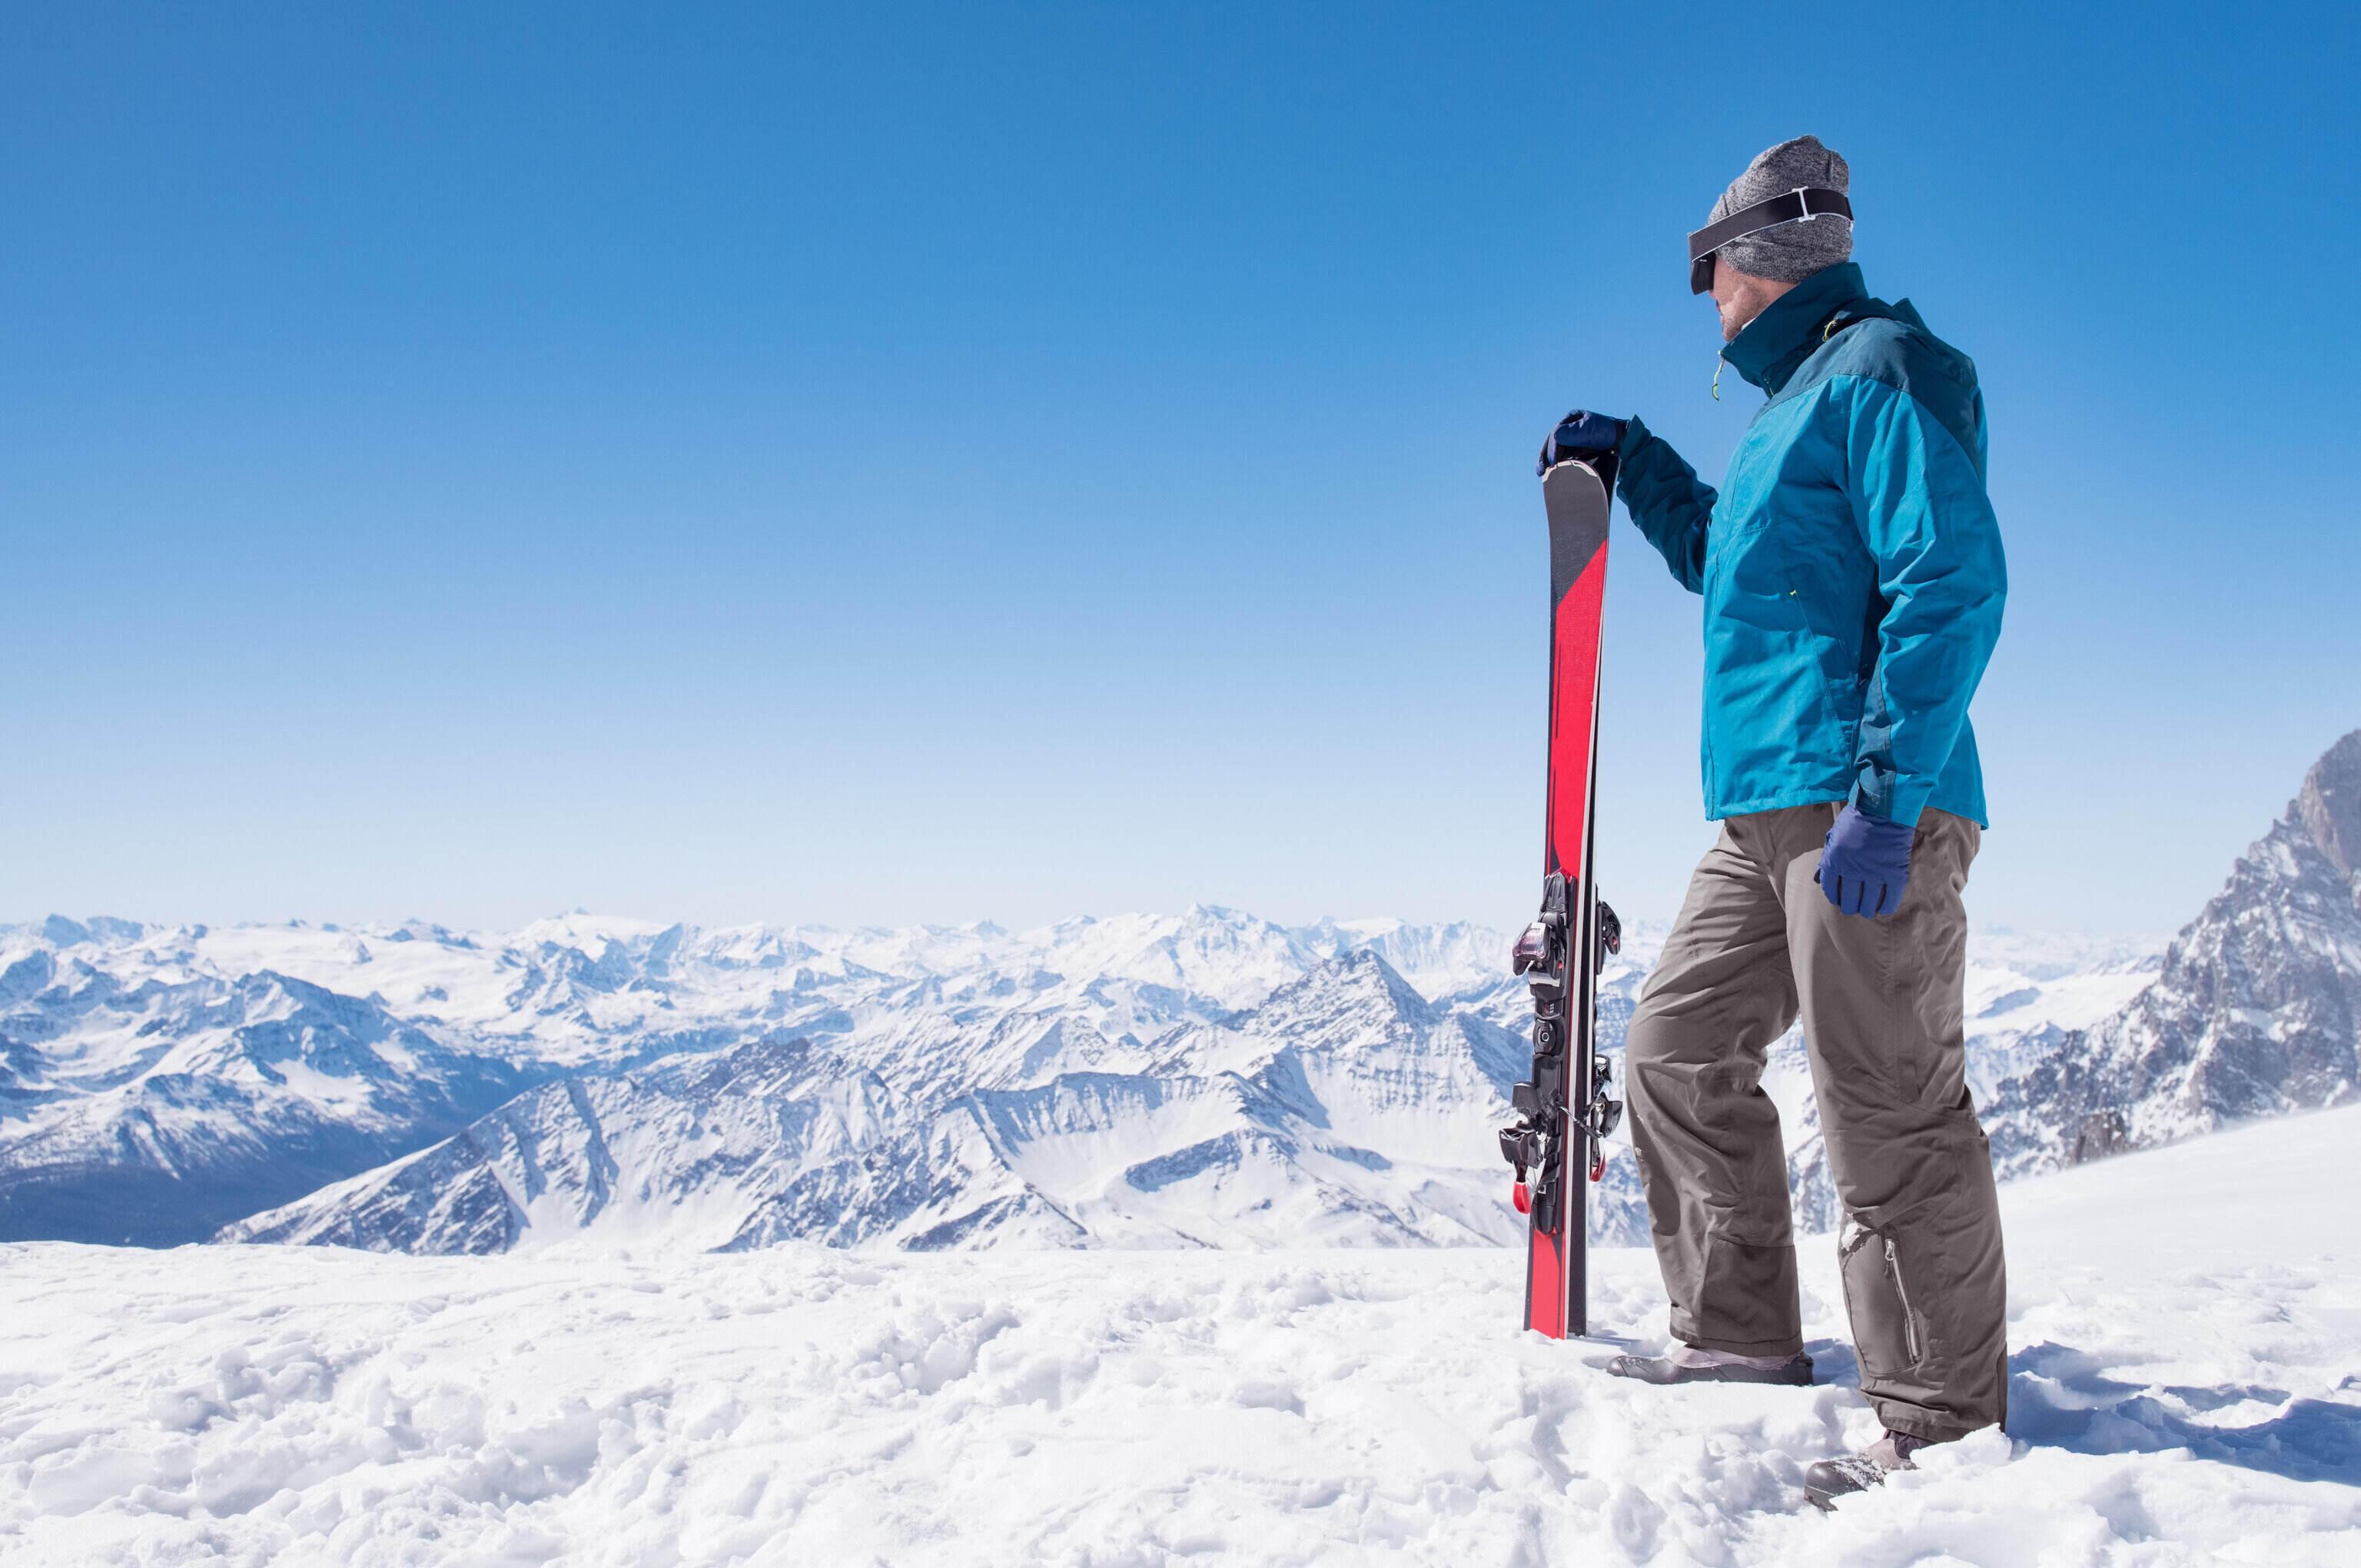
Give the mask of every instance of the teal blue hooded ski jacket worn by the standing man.
POLYGON ((1639 420, 1615 486, 1705 595, 1705 815, 1851 801, 1986 824, 1967 701, 2007 564, 1974 361, 1908 300, 1868 298, 1851 262, 1773 300, 1724 359, 1768 401, 1721 491, 1639 420))

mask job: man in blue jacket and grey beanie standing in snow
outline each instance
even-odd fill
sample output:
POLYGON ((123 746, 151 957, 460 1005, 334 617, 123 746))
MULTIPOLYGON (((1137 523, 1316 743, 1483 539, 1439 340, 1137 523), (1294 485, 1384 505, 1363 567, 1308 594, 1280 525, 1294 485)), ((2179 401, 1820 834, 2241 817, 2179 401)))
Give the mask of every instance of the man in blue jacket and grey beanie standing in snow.
POLYGON ((1983 397, 1908 302, 1868 295, 1851 248, 1849 170, 1813 137, 1754 158, 1690 236, 1721 357, 1768 397, 1719 494, 1636 418, 1577 413, 1556 435, 1561 453, 1617 453, 1631 520, 1705 595, 1721 819, 1624 1072, 1681 1348, 1613 1370, 1811 1381, 1761 1091, 1801 1015, 1860 1391, 1886 1426, 1811 1469, 1823 1507, 2007 1410, 2000 1209, 1962 1027, 1960 893, 1986 819, 1967 701, 2007 588, 1983 397))

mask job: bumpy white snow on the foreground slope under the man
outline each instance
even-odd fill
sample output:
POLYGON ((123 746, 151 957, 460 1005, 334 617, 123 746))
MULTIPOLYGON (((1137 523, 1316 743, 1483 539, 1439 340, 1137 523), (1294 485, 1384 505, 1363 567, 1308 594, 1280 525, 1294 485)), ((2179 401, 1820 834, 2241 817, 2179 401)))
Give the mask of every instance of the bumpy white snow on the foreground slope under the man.
MULTIPOLYGON (((1834 1516, 1823 1384, 1646 1389, 1520 1259, 0 1247, 9 1563, 2354 1563, 2361 1108, 2004 1188, 2012 1433, 1834 1516)), ((1665 1344, 1646 1252, 1594 1320, 1665 1344)))

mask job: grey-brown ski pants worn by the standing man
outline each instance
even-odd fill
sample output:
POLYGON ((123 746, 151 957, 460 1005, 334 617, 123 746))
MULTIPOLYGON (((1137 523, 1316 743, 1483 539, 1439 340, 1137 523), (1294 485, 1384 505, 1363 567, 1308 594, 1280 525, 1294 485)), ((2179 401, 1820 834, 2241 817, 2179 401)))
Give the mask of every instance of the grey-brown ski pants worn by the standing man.
POLYGON ((1837 914, 1811 874, 1834 805, 1731 817, 1698 862, 1627 1034, 1631 1143, 1672 1332, 1712 1351, 1804 1346, 1771 1044, 1804 1018, 1860 1391, 1894 1431, 2007 1415, 1993 1159, 1967 1091, 1962 985, 1974 822, 1924 812, 1910 890, 1837 914))

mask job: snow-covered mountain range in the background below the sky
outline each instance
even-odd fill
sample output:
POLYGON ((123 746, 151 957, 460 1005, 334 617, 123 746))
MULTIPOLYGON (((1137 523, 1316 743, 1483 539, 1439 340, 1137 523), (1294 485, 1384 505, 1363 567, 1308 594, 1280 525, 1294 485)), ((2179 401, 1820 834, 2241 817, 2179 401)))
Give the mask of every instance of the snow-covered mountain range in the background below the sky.
MULTIPOLYGON (((2361 734, 2158 956, 1971 942, 2007 1174, 2354 1096, 2361 734)), ((1603 975, 1620 1046, 1662 930, 1603 975)), ((510 1252, 1506 1242, 1476 926, 0 928, 0 1240, 510 1252)), ((1766 1079, 1834 1221, 1801 1041, 1766 1079)), ((1594 1235, 1646 1237, 1627 1152, 1594 1235)))

